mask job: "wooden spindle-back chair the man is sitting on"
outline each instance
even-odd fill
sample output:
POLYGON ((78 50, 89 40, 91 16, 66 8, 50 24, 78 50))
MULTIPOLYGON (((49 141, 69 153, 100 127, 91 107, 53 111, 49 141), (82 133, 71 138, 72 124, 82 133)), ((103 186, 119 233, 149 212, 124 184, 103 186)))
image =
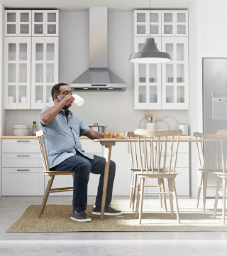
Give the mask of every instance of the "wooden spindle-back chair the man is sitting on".
POLYGON ((72 171, 50 171, 49 165, 48 165, 48 156, 46 153, 45 143, 44 143, 44 139, 43 139, 45 132, 38 131, 38 132, 35 132, 35 134, 36 134, 36 137, 38 138, 38 145, 40 147, 40 154, 42 156, 43 168, 44 168, 43 173, 44 173, 44 175, 50 176, 49 181, 48 181, 48 186, 45 190, 45 195, 43 197, 43 203, 40 208, 40 212, 38 214, 38 218, 40 218, 40 216, 43 214, 43 211, 45 209, 45 204, 48 201, 49 193, 73 191, 73 187, 51 188, 52 182, 54 181, 54 178, 55 178, 55 175, 72 175, 72 178, 74 179, 74 172, 72 172, 72 171))

